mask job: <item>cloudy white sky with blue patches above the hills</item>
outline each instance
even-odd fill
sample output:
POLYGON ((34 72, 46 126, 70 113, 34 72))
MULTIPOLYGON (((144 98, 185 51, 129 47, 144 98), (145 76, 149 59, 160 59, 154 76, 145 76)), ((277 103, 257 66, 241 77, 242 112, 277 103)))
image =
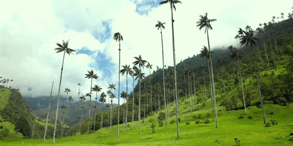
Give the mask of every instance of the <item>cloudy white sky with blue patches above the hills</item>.
MULTIPOLYGON (((54 48, 69 40, 69 48, 76 52, 65 55, 61 95, 66 96, 64 89, 69 88, 68 95, 77 101, 78 83, 82 85, 80 96, 88 93, 91 80, 85 74, 93 70, 99 77, 92 86, 98 84, 106 92, 113 83, 114 103, 118 103, 119 42, 113 40, 114 33, 121 33, 124 39, 120 65, 133 67, 133 57, 141 55, 153 65, 153 72, 156 66, 163 67, 161 34, 155 24, 166 22, 162 30, 164 61, 173 66, 171 9, 169 4, 159 5, 161 1, 6 0, 0 5, 0 76, 13 79, 12 88, 30 97, 49 96, 54 81, 52 95, 57 95, 63 53, 56 54, 54 48)), ((234 37, 239 28, 250 25, 255 30, 272 16, 281 21, 281 13, 287 19, 293 11, 291 0, 181 1, 173 11, 176 64, 208 46, 207 34, 196 27, 199 16, 206 12, 209 19, 217 19, 209 31, 212 49, 237 46, 234 37)), ((149 74, 146 68, 142 72, 149 74)), ((126 74, 120 75, 120 86, 120 93, 126 91, 126 74)), ((131 91, 132 78, 128 76, 128 93, 131 91)))

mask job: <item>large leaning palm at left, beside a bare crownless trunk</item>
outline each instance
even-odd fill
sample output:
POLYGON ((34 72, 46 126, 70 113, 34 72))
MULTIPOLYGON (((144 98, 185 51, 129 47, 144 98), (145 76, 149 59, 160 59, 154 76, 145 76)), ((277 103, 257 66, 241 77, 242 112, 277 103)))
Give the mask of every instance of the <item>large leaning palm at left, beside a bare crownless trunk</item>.
POLYGON ((55 144, 55 133, 56 133, 56 127, 57 127, 57 118, 58 118, 58 108, 59 108, 59 99, 60 99, 60 89, 61 89, 61 81, 62 81, 62 73, 63 73, 63 63, 64 63, 64 57, 65 57, 65 53, 70 55, 75 52, 75 50, 72 50, 70 48, 68 48, 68 41, 64 42, 63 40, 63 45, 56 43, 56 45, 59 48, 55 48, 54 50, 57 51, 56 53, 60 53, 60 52, 64 52, 63 54, 63 62, 62 62, 62 68, 61 68, 61 75, 60 75, 60 83, 59 83, 59 91, 58 91, 58 98, 57 98, 57 107, 56 107, 56 117, 55 117, 55 128, 54 128, 54 134, 53 134, 53 144, 55 144))

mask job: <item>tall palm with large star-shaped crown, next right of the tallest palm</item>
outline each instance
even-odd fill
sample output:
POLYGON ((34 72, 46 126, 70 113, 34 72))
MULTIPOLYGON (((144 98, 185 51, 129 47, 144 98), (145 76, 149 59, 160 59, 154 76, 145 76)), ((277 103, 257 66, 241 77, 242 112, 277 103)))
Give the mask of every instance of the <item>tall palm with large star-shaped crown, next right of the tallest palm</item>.
MULTIPOLYGON (((212 30, 212 27, 210 25, 210 22, 216 21, 217 19, 209 19, 208 13, 206 13, 205 16, 200 15, 200 19, 196 23, 196 27, 199 27, 199 30, 205 28, 205 33, 207 32, 208 36, 208 44, 209 44, 209 29, 212 30)), ((210 48, 209 48, 210 52, 210 48)), ((209 61, 210 61, 210 74, 211 74, 211 83, 212 83, 212 90, 213 90, 213 97, 216 97, 215 93, 215 85, 214 85, 214 78, 213 78, 213 71, 212 71, 212 62, 211 62, 211 54, 209 53, 209 61)), ((216 117, 216 128, 218 128, 218 117, 217 117, 217 106, 216 106, 216 98, 214 98, 214 106, 215 106, 215 117, 216 117)))

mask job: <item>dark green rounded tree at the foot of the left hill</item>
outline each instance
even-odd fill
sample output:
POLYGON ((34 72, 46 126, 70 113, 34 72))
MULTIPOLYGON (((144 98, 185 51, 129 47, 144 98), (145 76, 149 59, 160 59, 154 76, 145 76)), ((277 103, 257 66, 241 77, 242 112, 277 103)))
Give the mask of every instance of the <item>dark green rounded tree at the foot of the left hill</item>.
POLYGON ((20 119, 16 122, 14 129, 21 132, 23 136, 30 136, 32 132, 32 129, 23 115, 21 115, 20 119))

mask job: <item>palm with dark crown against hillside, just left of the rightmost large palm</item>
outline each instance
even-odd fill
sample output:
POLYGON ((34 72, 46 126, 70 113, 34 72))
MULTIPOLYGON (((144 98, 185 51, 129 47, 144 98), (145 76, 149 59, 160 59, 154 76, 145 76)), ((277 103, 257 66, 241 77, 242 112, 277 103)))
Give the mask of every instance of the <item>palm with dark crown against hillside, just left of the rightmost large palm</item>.
POLYGON ((247 115, 246 105, 245 105, 245 96, 244 96, 244 90, 243 90, 243 82, 242 82, 242 73, 241 73, 241 67, 239 64, 239 59, 243 58, 243 53, 238 52, 238 50, 235 47, 233 47, 232 45, 229 46, 229 50, 230 50, 230 58, 236 59, 238 62, 238 67, 239 67, 239 72, 240 72, 240 80, 241 80, 242 97, 243 97, 243 106, 244 106, 245 114, 247 115))

